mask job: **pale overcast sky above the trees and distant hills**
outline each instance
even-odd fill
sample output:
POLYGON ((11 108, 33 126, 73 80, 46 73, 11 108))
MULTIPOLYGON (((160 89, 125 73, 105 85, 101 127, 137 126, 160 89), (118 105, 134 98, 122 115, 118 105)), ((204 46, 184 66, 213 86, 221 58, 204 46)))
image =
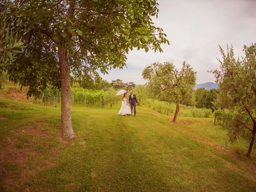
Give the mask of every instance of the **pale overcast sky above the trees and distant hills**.
POLYGON ((173 61, 180 68, 186 60, 197 72, 197 84, 214 82, 207 72, 218 68, 218 45, 233 44, 236 56, 243 55, 243 45, 256 42, 256 0, 158 0, 155 26, 164 30, 170 45, 164 52, 134 49, 127 55, 127 68, 110 70, 103 79, 144 84, 141 73, 153 62, 173 61))

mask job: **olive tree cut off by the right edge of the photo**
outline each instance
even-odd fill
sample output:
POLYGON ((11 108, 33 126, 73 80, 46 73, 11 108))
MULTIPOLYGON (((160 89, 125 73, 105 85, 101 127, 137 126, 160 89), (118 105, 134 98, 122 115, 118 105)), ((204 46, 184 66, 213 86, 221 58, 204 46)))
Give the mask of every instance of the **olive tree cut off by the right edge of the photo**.
POLYGON ((244 46, 245 56, 235 59, 233 46, 227 53, 220 47, 220 70, 211 71, 219 83, 218 108, 224 111, 223 126, 230 142, 243 132, 251 133, 247 156, 250 157, 256 134, 256 44, 244 46))

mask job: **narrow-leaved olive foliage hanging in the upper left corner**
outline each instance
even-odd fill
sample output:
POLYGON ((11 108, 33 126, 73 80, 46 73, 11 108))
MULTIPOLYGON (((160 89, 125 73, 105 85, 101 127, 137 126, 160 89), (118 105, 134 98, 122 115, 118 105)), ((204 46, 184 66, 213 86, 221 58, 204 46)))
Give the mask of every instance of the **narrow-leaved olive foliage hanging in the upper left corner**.
POLYGON ((16 54, 24 48, 17 35, 19 25, 12 1, 0 0, 0 66, 12 64, 16 54))

